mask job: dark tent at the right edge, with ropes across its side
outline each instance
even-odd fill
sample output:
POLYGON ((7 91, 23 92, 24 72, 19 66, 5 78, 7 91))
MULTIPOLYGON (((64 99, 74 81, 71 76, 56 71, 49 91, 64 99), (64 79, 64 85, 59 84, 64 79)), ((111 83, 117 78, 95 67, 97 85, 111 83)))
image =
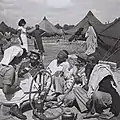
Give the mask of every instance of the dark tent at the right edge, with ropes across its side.
MULTIPOLYGON (((101 58, 116 62, 120 66, 120 18, 111 23, 98 35, 98 48, 101 58)), ((98 53, 98 51, 96 51, 98 53)), ((95 54, 96 54, 95 53, 95 54)), ((97 55, 97 54, 96 54, 97 55)))

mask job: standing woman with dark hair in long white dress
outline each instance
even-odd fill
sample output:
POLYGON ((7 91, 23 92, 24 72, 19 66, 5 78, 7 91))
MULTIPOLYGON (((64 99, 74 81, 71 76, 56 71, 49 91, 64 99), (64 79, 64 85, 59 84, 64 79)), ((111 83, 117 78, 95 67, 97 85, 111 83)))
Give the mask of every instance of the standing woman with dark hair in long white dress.
POLYGON ((18 35, 19 39, 21 41, 22 48, 25 48, 28 52, 28 43, 27 43, 27 34, 25 29, 26 21, 24 19, 21 19, 18 22, 18 35))

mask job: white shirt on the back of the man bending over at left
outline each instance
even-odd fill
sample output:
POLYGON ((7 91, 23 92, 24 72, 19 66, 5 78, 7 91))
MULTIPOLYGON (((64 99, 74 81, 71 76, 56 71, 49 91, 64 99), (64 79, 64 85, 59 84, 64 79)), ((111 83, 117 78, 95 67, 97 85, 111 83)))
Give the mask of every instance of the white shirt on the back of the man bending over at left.
POLYGON ((23 49, 20 46, 11 46, 4 51, 4 56, 0 63, 4 65, 9 65, 9 63, 14 59, 14 57, 19 57, 22 54, 23 49))

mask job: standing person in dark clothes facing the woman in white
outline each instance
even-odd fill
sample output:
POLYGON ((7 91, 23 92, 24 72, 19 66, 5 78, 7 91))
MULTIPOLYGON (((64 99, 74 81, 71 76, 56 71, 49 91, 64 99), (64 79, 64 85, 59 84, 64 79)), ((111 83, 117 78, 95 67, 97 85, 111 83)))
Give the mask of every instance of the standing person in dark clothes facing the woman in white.
POLYGON ((44 51, 43 43, 42 43, 42 35, 45 33, 42 29, 39 28, 39 25, 35 25, 35 30, 32 33, 32 36, 35 37, 35 49, 38 49, 42 54, 44 51))

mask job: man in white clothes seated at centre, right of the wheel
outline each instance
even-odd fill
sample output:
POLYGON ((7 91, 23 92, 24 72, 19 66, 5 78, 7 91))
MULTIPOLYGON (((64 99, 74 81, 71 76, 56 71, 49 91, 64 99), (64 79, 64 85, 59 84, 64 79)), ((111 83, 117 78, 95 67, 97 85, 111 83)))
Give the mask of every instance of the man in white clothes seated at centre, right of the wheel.
POLYGON ((72 74, 75 72, 74 68, 70 71, 70 64, 67 61, 68 52, 61 50, 57 59, 53 60, 47 67, 47 70, 53 76, 53 91, 56 93, 56 97, 60 94, 64 94, 70 88, 73 83, 72 74))

